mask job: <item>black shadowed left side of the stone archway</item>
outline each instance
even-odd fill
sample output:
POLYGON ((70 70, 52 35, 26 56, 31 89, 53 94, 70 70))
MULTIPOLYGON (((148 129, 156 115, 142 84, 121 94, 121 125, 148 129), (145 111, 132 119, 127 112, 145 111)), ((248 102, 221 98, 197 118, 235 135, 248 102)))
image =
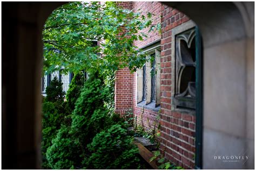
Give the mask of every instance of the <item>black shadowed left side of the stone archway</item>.
POLYGON ((41 168, 42 29, 63 2, 2 3, 2 168, 41 168))

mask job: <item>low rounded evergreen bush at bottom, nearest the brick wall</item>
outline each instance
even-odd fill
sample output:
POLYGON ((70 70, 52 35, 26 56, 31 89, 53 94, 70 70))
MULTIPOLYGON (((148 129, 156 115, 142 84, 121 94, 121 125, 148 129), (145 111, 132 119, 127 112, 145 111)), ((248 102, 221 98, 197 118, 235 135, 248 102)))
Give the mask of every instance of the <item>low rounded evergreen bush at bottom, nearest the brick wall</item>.
POLYGON ((98 133, 88 145, 93 153, 86 161, 87 169, 139 169, 139 151, 131 143, 120 125, 98 133))

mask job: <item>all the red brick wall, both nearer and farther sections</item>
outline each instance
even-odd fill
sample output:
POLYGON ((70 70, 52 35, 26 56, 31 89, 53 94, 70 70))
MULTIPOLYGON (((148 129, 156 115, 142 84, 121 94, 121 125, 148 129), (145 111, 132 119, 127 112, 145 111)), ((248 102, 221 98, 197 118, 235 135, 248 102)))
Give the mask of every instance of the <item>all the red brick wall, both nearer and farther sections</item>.
MULTIPOLYGON (((176 9, 161 5, 159 2, 119 2, 119 4, 129 9, 133 4, 133 10, 137 12, 138 9, 141 9, 143 15, 146 15, 147 12, 152 12, 156 15, 153 17, 153 24, 161 22, 161 35, 158 32, 148 33, 148 30, 143 30, 148 35, 148 38, 144 41, 136 41, 134 45, 141 48, 161 39, 160 151, 166 159, 176 165, 186 169, 194 168, 196 118, 186 113, 178 113, 171 110, 171 90, 174 87, 171 81, 174 76, 171 73, 171 45, 174 43, 174 40, 172 40, 172 28, 190 19, 176 9), (162 17, 160 18, 160 16, 162 17)), ((137 106, 136 74, 130 74, 129 69, 122 69, 117 72, 116 76, 116 112, 125 113, 132 108, 138 124, 143 125, 146 130, 152 129, 158 113, 149 109, 142 110, 137 106)))

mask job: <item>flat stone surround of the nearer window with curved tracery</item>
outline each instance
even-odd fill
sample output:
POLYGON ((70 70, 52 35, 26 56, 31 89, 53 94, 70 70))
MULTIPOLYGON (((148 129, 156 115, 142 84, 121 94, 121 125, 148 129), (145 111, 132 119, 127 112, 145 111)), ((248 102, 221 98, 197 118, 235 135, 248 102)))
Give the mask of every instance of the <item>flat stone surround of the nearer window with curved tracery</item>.
POLYGON ((189 20, 188 22, 181 24, 175 28, 172 29, 172 59, 171 59, 171 67, 172 67, 172 89, 171 89, 171 95, 172 95, 172 101, 171 101, 171 110, 176 111, 176 112, 181 112, 181 113, 190 113, 192 115, 196 114, 196 110, 190 110, 190 109, 185 109, 185 108, 177 108, 176 104, 173 103, 174 95, 176 94, 176 35, 180 34, 182 32, 185 32, 187 30, 190 30, 191 28, 196 27, 196 24, 192 21, 189 20))

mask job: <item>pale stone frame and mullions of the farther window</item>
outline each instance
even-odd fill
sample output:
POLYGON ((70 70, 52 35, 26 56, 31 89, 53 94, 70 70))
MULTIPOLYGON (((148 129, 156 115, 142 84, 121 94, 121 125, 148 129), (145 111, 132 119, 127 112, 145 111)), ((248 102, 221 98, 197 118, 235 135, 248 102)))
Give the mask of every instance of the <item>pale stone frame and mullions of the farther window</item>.
POLYGON ((146 100, 143 100, 143 67, 139 68, 136 72, 137 76, 137 92, 136 100, 137 106, 144 107, 153 111, 159 111, 160 109, 160 54, 161 45, 158 42, 156 45, 147 46, 143 48, 143 52, 147 53, 146 59, 150 59, 152 54, 155 54, 156 60, 156 102, 151 100, 151 61, 146 61, 146 100))

